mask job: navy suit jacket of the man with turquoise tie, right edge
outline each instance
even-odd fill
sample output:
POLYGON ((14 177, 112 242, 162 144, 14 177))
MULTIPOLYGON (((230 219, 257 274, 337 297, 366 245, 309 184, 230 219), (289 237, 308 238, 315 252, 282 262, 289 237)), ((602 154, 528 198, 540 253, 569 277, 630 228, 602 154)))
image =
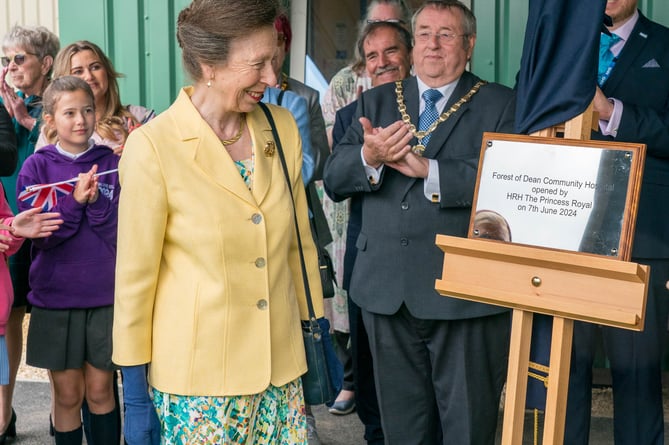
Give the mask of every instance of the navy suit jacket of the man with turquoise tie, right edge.
POLYGON ((639 16, 602 88, 623 102, 616 138, 646 144, 632 256, 669 258, 669 29, 639 16))

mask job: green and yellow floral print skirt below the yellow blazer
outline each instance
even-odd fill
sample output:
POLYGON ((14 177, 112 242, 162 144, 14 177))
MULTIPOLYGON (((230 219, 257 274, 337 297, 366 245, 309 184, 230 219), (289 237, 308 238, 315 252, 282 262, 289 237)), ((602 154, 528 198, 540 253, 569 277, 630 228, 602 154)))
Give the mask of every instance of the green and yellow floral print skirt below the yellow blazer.
POLYGON ((307 444, 301 379, 244 396, 181 396, 152 388, 161 444, 307 444))

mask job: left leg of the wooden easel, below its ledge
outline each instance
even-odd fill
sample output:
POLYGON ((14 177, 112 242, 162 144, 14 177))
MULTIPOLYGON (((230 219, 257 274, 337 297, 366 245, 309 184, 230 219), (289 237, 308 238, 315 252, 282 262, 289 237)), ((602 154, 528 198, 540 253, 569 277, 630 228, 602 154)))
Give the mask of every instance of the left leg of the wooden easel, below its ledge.
POLYGON ((534 314, 514 309, 509 345, 509 370, 504 398, 503 445, 523 443, 525 397, 527 394, 527 369, 530 363, 532 320, 534 314))

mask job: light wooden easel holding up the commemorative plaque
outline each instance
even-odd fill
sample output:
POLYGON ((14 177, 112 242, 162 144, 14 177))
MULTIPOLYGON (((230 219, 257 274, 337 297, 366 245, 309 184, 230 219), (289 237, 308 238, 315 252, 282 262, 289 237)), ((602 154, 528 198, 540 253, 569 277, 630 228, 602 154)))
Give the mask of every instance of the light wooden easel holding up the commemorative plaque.
MULTIPOLYGON (((592 105, 532 136, 590 139, 592 105)), ((513 309, 503 445, 521 445, 534 313, 553 316, 542 443, 562 444, 574 320, 642 330, 649 268, 611 258, 437 235, 444 251, 442 295, 513 309)))

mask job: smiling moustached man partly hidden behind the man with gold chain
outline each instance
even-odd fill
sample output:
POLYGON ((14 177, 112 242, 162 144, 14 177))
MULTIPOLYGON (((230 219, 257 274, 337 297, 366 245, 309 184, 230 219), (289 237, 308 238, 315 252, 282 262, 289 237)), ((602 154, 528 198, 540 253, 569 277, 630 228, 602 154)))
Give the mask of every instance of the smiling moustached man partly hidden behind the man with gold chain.
MULTIPOLYGON (((372 87, 402 80, 410 74, 411 33, 395 21, 377 21, 365 25, 358 39, 358 51, 365 60, 365 70, 372 81, 372 87)), ((334 150, 337 150, 337 144, 351 125, 357 106, 358 102, 353 101, 337 111, 332 130, 334 150)), ((355 240, 360 233, 362 219, 361 204, 359 197, 351 197, 342 286, 348 291, 353 381, 358 417, 365 425, 367 444, 382 445, 383 429, 376 400, 374 368, 367 331, 362 322, 360 307, 351 299, 349 289, 356 255, 355 240)))

